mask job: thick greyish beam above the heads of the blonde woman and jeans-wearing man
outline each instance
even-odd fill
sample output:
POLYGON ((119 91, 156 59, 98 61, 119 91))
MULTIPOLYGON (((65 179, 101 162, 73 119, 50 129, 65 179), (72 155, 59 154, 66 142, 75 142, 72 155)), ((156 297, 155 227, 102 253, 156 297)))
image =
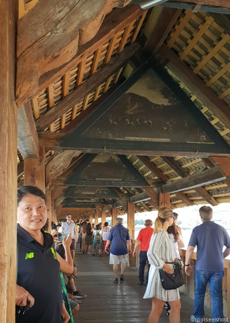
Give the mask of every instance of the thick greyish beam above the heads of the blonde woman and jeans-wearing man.
POLYGON ((165 184, 162 186, 163 193, 174 193, 184 191, 199 186, 208 185, 211 183, 219 182, 226 179, 226 176, 222 175, 218 167, 205 170, 202 173, 191 175, 190 177, 182 178, 165 184))

